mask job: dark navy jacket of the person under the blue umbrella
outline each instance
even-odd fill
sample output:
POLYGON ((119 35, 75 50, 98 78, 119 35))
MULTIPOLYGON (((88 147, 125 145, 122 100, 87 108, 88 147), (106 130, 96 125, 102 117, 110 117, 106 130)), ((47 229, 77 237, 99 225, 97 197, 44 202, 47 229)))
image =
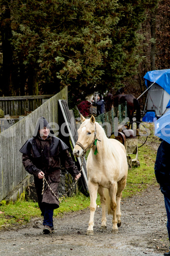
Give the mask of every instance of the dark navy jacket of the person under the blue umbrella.
POLYGON ((170 144, 164 140, 159 145, 154 169, 161 192, 170 198, 170 144))

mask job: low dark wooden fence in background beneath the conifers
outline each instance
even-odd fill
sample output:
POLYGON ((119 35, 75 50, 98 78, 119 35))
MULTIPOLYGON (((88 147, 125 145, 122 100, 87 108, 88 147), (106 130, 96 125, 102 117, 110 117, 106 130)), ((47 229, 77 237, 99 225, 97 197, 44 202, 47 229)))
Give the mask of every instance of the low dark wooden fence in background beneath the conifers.
POLYGON ((44 103, 45 99, 52 96, 54 95, 0 97, 0 109, 3 110, 4 115, 22 116, 25 111, 34 111, 44 103))

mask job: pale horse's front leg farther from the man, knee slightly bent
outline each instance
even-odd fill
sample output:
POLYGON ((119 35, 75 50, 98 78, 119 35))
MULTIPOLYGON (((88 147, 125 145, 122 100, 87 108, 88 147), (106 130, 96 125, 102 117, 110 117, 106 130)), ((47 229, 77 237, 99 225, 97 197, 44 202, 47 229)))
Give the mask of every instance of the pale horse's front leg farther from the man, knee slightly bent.
POLYGON ((116 232, 118 231, 118 227, 117 227, 117 218, 116 218, 116 192, 117 192, 117 182, 114 182, 110 188, 109 188, 109 194, 111 197, 111 210, 113 212, 113 227, 112 227, 112 232, 116 232))

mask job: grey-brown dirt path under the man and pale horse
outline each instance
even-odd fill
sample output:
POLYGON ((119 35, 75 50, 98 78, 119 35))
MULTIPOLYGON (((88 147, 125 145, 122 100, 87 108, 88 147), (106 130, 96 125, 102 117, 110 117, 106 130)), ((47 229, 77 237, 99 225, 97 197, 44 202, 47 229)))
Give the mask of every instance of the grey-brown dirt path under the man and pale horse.
POLYGON ((159 186, 122 201, 119 233, 100 230, 101 208, 95 214, 94 236, 86 236, 89 209, 54 219, 56 232, 42 234, 42 219, 20 229, 0 231, 1 256, 161 256, 169 250, 166 212, 159 186))

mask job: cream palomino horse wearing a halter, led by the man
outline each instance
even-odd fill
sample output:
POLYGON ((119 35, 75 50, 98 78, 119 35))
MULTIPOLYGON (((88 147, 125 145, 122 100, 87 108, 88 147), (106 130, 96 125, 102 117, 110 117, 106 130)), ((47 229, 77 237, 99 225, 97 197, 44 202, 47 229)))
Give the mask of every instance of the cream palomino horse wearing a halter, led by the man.
POLYGON ((96 211, 97 192, 102 205, 102 229, 106 228, 106 198, 108 213, 113 214, 112 231, 118 231, 121 225, 120 201, 126 186, 127 158, 124 145, 118 140, 108 139, 102 126, 95 122, 94 116, 85 119, 81 115, 78 140, 73 149, 74 156, 81 157, 91 148, 87 159, 88 190, 90 193, 90 221, 87 235, 93 235, 94 213, 96 211), (108 191, 105 195, 105 188, 108 191))

